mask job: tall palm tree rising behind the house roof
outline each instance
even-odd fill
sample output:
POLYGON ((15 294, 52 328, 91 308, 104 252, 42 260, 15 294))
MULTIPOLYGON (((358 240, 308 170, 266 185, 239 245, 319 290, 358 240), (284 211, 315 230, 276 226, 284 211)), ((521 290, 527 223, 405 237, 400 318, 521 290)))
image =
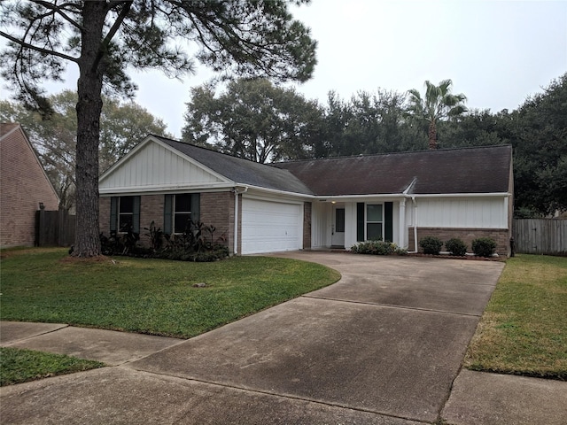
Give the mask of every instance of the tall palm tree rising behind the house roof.
POLYGON ((453 81, 443 80, 439 86, 425 81, 425 97, 422 98, 416 89, 408 90, 409 106, 407 114, 429 123, 429 149, 437 149, 437 121, 461 115, 467 112, 463 94, 451 93, 453 81))

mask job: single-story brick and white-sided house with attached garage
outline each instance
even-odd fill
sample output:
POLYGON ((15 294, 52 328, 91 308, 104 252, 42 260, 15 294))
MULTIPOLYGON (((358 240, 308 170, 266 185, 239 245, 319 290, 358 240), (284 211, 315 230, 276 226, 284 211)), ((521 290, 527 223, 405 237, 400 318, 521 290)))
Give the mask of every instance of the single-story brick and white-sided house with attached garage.
POLYGON ((423 236, 480 236, 509 254, 509 145, 258 164, 148 135, 99 180, 108 234, 153 220, 214 225, 232 254, 349 249, 377 238, 418 251, 423 236))

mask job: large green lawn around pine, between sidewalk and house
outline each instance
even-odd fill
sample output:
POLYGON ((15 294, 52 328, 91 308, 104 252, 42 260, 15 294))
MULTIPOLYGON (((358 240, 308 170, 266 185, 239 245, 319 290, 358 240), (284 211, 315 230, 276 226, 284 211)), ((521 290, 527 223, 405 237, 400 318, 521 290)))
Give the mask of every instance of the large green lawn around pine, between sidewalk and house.
POLYGON ((4 321, 43 321, 189 338, 337 282, 328 267, 236 257, 214 263, 70 260, 62 249, 4 251, 4 321), (193 288, 206 282, 206 288, 193 288))

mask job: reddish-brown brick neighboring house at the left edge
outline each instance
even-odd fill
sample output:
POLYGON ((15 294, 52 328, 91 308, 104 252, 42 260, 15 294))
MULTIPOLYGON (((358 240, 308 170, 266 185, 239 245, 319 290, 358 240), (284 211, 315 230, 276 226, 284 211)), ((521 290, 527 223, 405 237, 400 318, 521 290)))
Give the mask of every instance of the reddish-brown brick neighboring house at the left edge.
POLYGON ((19 124, 0 124, 0 246, 33 246, 35 212, 59 199, 19 124))

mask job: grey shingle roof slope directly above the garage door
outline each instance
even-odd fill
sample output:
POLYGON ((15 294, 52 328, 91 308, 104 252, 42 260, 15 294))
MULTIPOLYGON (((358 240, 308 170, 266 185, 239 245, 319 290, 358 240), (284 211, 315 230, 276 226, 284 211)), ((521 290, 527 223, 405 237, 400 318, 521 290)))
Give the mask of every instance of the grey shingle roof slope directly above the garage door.
POLYGON ((233 157, 189 143, 177 142, 159 135, 151 136, 237 184, 313 195, 311 189, 288 170, 233 157))

